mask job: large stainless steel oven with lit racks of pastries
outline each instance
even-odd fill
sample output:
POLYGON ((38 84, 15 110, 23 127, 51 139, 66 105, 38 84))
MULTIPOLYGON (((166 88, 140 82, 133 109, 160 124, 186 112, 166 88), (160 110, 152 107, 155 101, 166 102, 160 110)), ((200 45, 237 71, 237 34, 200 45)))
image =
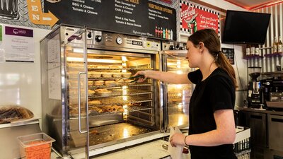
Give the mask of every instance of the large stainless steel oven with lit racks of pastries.
MULTIPOLYGON (((42 131, 61 155, 88 158, 162 138, 167 124, 187 124, 188 99, 180 100, 179 92, 187 98, 190 86, 161 89, 163 83, 150 78, 129 79, 161 69, 159 58, 167 55, 159 57, 160 40, 61 25, 40 47, 42 131), (169 92, 166 105, 174 105, 161 105, 163 91, 169 92)), ((167 57, 167 64, 177 62, 167 57)))

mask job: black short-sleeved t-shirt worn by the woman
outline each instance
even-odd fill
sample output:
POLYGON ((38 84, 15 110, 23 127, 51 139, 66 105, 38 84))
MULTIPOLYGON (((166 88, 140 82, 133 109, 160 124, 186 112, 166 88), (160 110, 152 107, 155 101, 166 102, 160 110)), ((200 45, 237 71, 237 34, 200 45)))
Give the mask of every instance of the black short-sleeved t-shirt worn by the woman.
MULTIPOLYGON (((202 134, 216 129, 214 112, 233 110, 235 88, 224 69, 215 69, 204 81, 200 70, 188 73, 187 77, 196 84, 190 98, 189 134, 202 134)), ((192 159, 233 159, 233 144, 220 146, 190 146, 192 159)))

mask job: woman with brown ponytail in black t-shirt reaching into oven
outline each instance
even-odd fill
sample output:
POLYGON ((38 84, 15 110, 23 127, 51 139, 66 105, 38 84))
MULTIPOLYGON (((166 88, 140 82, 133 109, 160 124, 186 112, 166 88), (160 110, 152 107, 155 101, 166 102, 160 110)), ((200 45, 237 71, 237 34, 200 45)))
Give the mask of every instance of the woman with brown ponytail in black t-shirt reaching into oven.
POLYGON ((192 159, 233 159, 236 131, 233 118, 236 78, 233 67, 220 51, 214 30, 198 30, 187 40, 188 74, 161 71, 139 71, 146 78, 168 83, 195 83, 190 99, 189 135, 174 134, 172 146, 189 146, 192 159))

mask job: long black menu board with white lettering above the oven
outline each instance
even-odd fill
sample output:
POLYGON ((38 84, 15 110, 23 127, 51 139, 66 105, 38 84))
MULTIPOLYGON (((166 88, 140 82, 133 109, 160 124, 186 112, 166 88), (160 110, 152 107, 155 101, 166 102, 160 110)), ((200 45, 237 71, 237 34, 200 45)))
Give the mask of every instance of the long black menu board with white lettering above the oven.
POLYGON ((176 11, 149 0, 45 0, 59 21, 115 33, 176 40, 176 11))

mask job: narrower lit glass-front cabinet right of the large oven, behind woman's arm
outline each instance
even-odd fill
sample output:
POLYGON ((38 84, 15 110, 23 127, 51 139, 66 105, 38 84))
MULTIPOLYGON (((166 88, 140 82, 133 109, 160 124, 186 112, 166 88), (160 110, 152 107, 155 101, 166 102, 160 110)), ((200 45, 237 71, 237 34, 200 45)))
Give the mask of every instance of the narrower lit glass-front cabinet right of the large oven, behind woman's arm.
MULTIPOLYGON (((182 43, 163 42, 160 54, 160 68, 162 71, 173 73, 189 73, 194 71, 189 67, 186 59, 186 46, 182 43)), ((193 84, 173 84, 161 82, 161 107, 163 107, 163 127, 178 126, 187 129, 189 126, 189 105, 193 84)))

